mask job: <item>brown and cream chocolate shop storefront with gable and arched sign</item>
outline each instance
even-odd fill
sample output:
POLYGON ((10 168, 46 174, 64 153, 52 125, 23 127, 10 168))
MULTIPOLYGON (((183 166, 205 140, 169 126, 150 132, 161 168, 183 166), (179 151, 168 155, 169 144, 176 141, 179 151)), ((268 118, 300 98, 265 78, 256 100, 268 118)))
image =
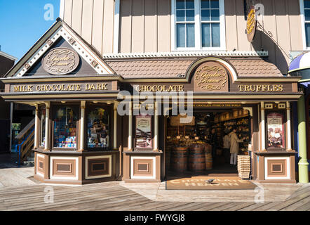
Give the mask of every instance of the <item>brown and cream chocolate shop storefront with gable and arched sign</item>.
POLYGON ((58 20, 1 79, 1 97, 35 106, 34 178, 44 183, 238 176, 222 143, 232 127, 243 140, 238 154, 250 156, 249 178, 295 183, 290 108, 302 96, 299 77, 264 57, 105 58, 58 20), (193 108, 186 122, 176 95, 193 108))

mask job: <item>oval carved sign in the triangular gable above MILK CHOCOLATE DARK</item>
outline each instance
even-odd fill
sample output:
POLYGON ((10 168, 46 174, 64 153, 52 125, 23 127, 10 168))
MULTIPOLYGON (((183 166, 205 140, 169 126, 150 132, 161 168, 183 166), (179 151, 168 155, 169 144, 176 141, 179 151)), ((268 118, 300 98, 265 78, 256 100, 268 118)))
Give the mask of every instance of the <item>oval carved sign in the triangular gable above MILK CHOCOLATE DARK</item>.
POLYGON ((42 60, 46 72, 52 75, 67 75, 79 66, 79 54, 67 48, 50 50, 42 60))

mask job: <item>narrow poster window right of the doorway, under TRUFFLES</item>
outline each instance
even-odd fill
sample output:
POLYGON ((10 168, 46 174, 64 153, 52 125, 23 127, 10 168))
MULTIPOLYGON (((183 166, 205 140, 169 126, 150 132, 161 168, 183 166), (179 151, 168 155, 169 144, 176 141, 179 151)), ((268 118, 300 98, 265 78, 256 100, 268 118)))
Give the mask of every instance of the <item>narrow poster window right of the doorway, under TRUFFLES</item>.
POLYGON ((284 124, 282 113, 267 114, 267 148, 284 148, 284 124))

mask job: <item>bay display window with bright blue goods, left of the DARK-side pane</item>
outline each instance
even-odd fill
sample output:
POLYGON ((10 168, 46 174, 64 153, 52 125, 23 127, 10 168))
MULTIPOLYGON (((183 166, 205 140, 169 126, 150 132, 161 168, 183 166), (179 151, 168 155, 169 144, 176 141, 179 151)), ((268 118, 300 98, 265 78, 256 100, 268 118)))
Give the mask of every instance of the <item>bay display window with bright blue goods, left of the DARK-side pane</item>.
POLYGON ((77 115, 78 113, 75 108, 56 108, 53 126, 54 148, 76 148, 77 115))

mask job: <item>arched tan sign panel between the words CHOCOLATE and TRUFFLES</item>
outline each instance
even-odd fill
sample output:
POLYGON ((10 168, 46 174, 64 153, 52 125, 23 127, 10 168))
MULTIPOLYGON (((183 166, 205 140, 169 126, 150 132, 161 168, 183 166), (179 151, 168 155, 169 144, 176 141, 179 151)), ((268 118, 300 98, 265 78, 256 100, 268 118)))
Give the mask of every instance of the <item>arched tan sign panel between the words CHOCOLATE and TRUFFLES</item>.
POLYGON ((220 63, 203 63, 195 72, 195 91, 228 91, 228 83, 227 70, 220 63))

